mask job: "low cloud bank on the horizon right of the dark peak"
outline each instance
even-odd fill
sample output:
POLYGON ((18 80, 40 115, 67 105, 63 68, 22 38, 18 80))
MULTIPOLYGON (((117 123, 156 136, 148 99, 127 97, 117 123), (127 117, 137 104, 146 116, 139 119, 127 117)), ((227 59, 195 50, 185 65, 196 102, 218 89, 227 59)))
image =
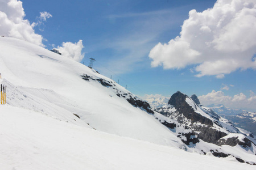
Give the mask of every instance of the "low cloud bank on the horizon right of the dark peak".
POLYGON ((225 95, 223 91, 212 91, 207 95, 202 95, 198 97, 203 105, 210 104, 224 104, 230 108, 247 108, 251 111, 256 111, 256 96, 253 91, 250 91, 250 97, 246 97, 245 94, 240 93, 237 95, 228 96, 225 95))

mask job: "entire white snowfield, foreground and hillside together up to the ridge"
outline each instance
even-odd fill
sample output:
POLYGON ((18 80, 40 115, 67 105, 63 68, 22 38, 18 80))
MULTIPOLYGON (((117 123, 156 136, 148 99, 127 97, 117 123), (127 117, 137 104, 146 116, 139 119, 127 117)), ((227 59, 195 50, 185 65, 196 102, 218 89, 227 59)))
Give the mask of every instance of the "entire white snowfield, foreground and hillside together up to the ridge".
POLYGON ((131 92, 81 63, 11 37, 0 46, 0 169, 255 169, 195 153, 179 131, 117 95, 131 92))

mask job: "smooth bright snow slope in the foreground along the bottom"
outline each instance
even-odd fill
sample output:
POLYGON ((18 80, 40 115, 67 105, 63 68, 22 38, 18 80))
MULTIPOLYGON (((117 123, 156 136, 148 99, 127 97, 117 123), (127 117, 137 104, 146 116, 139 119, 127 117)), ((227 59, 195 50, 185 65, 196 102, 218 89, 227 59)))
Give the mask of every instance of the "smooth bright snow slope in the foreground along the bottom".
POLYGON ((0 169, 255 169, 216 158, 110 135, 45 114, 0 107, 0 169))

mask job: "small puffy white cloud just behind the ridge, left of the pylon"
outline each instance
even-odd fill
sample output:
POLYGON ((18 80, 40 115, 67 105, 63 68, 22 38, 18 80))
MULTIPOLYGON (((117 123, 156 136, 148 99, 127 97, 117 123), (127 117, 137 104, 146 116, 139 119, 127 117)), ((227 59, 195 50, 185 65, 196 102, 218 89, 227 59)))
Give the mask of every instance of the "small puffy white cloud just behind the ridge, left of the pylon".
POLYGON ((84 58, 84 53, 81 53, 82 48, 84 48, 84 45, 82 45, 82 40, 79 40, 75 43, 63 42, 62 46, 57 47, 57 50, 59 50, 62 56, 72 58, 75 61, 80 62, 82 61, 82 58, 84 58))

